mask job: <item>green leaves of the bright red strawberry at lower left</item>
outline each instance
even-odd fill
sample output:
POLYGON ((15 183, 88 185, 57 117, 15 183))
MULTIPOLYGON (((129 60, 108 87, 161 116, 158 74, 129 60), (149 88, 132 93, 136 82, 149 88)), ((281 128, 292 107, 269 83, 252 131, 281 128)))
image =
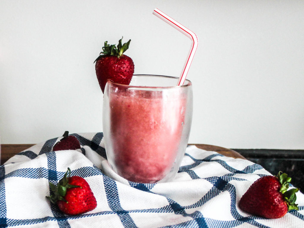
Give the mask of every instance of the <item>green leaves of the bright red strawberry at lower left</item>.
POLYGON ((64 177, 59 181, 57 185, 54 185, 53 183, 49 182, 50 190, 53 192, 53 194, 50 194, 50 196, 46 196, 48 200, 52 203, 56 203, 58 200, 63 200, 67 202, 64 199, 64 196, 67 193, 68 188, 77 188, 80 187, 78 185, 70 185, 68 183, 69 177, 71 176, 71 169, 67 168, 66 173, 64 174, 64 177), (67 174, 69 174, 67 176, 67 174))

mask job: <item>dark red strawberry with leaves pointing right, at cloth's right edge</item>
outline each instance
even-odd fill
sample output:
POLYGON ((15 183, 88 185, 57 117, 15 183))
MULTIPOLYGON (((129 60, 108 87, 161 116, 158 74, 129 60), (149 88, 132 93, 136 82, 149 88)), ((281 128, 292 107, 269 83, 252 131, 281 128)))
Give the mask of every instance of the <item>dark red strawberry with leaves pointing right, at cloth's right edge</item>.
POLYGON ((291 178, 281 173, 257 179, 240 199, 240 208, 268 219, 281 218, 292 209, 298 210, 295 193, 299 189, 287 191, 291 178))

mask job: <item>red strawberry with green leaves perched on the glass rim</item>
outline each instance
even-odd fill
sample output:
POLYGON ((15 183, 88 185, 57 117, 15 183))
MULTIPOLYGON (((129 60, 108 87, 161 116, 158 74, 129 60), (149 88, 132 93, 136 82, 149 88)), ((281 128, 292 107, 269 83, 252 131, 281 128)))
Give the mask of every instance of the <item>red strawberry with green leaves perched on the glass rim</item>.
POLYGON ((109 45, 108 41, 105 41, 105 46, 102 48, 102 52, 94 61, 95 70, 99 86, 104 92, 105 84, 108 80, 129 85, 134 73, 133 60, 123 53, 129 48, 131 40, 122 44, 121 38, 116 47, 115 44, 109 45))

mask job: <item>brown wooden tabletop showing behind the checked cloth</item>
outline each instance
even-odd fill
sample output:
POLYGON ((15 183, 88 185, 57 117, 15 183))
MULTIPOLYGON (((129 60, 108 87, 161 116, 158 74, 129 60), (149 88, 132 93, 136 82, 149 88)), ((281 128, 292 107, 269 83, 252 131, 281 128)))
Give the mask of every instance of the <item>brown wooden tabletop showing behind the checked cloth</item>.
MULTIPOLYGON (((14 156, 15 154, 18 154, 19 152, 28 149, 29 147, 33 146, 35 144, 1 144, 1 162, 0 164, 4 164, 9 158, 14 156)), ((208 151, 216 151, 219 154, 223 154, 227 157, 234 157, 234 158, 242 158, 246 159, 239 153, 237 153, 234 150, 230 150, 224 147, 218 147, 218 146, 212 146, 207 144, 190 144, 195 145, 198 148, 201 148, 203 150, 208 151)))

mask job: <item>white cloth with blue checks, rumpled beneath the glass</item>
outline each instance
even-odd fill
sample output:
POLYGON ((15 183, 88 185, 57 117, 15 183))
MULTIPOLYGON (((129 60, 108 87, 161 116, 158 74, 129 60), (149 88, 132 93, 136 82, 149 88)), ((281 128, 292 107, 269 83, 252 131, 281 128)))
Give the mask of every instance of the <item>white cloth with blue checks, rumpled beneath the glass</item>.
POLYGON ((304 227, 304 195, 299 211, 280 219, 250 215, 240 197, 258 178, 270 175, 260 165, 195 146, 186 149, 173 182, 139 184, 115 174, 106 160, 102 133, 71 134, 81 149, 52 152, 60 139, 30 147, 0 168, 0 227, 304 227), (68 216, 50 204, 49 181, 67 168, 89 183, 97 207, 68 216))

